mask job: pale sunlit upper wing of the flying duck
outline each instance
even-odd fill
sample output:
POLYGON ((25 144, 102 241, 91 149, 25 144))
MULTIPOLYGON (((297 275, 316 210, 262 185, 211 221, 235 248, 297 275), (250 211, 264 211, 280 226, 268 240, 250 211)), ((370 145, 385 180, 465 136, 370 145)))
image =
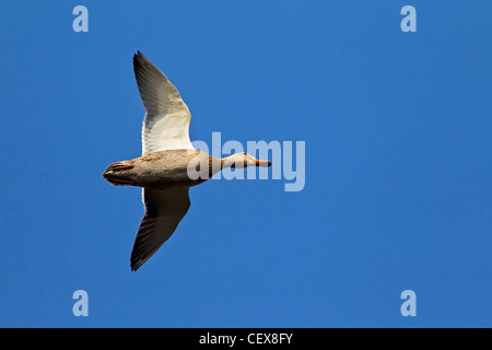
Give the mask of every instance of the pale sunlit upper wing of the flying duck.
POLYGON ((191 115, 173 83, 141 52, 133 57, 133 71, 147 110, 142 154, 194 149, 189 139, 191 115))

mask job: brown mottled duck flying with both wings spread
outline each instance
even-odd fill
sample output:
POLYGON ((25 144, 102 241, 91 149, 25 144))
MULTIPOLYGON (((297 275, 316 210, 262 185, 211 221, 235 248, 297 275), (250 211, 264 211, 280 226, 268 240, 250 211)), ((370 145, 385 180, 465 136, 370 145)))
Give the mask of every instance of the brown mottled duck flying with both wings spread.
POLYGON ((191 115, 173 83, 140 51, 133 56, 133 71, 145 108, 142 155, 110 164, 103 177, 116 186, 143 188, 145 213, 130 257, 131 270, 137 271, 186 215, 190 206, 189 187, 225 167, 270 166, 271 163, 247 153, 215 159, 196 150, 189 140, 191 115), (195 175, 190 176, 191 173, 195 175))

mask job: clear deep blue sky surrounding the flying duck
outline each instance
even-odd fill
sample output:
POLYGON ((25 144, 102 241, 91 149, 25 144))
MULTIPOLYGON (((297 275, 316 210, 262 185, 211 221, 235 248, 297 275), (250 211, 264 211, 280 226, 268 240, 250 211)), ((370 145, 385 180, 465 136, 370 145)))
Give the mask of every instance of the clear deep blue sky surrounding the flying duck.
POLYGON ((0 326, 492 326, 491 11, 2 1, 0 326), (89 33, 72 31, 78 4, 89 33), (305 141, 306 185, 195 187, 130 272, 140 189, 102 173, 140 155, 137 50, 179 90, 192 140, 305 141), (89 317, 72 315, 80 289, 89 317))

